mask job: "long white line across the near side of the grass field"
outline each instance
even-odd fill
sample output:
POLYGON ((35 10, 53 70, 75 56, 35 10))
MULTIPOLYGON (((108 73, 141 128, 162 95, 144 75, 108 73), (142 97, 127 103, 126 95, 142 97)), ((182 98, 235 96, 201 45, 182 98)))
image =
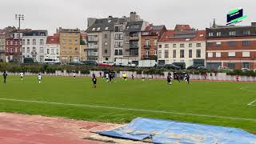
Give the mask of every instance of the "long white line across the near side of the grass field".
POLYGON ((2 100, 2 101, 12 101, 12 102, 42 103, 42 104, 61 105, 61 106, 82 106, 82 107, 112 109, 112 110, 142 111, 142 112, 148 112, 148 113, 190 115, 190 116, 204 117, 204 118, 223 118, 223 119, 232 119, 232 120, 256 122, 256 119, 253 119, 253 118, 232 118, 232 117, 218 116, 218 115, 192 114, 192 113, 181 113, 181 112, 162 111, 162 110, 142 110, 142 109, 134 109, 134 108, 113 107, 113 106, 93 106, 93 105, 82 105, 82 104, 61 103, 61 102, 28 101, 28 100, 11 99, 11 98, 0 98, 0 100, 2 100))

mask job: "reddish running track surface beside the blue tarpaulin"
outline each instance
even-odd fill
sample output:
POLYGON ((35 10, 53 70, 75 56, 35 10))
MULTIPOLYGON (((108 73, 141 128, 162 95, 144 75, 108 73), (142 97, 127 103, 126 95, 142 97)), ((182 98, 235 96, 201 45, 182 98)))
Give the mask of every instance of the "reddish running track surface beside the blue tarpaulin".
POLYGON ((38 115, 0 113, 0 143, 3 144, 101 144, 90 141, 90 131, 110 130, 118 125, 48 118, 38 115))

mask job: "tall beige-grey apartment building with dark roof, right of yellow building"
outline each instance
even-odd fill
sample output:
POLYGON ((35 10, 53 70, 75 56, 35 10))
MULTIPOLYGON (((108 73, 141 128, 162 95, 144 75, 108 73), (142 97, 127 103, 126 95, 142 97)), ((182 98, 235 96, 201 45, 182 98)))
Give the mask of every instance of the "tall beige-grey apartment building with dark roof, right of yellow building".
POLYGON ((118 18, 88 18, 87 59, 91 61, 114 61, 114 24, 118 18))

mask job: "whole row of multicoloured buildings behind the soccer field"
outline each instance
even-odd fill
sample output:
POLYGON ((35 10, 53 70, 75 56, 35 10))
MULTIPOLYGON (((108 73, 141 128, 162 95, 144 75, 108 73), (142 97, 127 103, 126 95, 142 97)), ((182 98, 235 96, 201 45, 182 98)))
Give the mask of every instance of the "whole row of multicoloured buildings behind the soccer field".
POLYGON ((87 30, 62 29, 49 36, 47 30, 0 30, 0 60, 22 61, 56 58, 62 63, 156 60, 158 65, 185 63, 186 67, 256 69, 256 23, 250 26, 219 26, 206 30, 189 25, 154 26, 136 12, 129 17, 88 18, 87 30))

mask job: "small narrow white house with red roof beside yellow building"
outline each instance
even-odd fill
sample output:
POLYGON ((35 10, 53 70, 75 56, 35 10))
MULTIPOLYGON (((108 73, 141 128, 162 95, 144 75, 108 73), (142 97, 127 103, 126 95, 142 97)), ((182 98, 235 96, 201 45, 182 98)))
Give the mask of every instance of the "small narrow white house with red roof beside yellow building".
POLYGON ((53 58, 60 61, 59 34, 48 36, 46 39, 45 58, 53 58))

